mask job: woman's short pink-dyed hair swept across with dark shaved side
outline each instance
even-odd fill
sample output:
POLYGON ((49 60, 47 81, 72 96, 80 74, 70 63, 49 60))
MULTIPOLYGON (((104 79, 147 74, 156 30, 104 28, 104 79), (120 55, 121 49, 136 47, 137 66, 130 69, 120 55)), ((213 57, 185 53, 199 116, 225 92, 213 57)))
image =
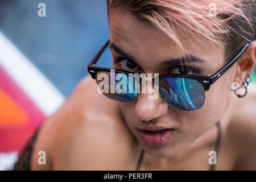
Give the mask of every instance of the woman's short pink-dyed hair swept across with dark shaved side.
POLYGON ((129 10, 146 20, 186 52, 180 33, 226 46, 226 59, 251 42, 255 34, 255 0, 107 0, 107 5, 108 12, 129 10), (209 15, 211 3, 216 5, 214 16, 209 15))

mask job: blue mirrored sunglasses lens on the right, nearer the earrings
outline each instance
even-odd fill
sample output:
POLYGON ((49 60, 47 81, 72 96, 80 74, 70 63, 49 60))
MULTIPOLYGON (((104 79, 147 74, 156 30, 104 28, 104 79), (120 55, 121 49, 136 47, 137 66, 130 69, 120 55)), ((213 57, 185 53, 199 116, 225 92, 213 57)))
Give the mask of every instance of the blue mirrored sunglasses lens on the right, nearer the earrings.
POLYGON ((180 110, 197 110, 204 105, 204 86, 190 78, 159 78, 159 94, 168 105, 180 110))

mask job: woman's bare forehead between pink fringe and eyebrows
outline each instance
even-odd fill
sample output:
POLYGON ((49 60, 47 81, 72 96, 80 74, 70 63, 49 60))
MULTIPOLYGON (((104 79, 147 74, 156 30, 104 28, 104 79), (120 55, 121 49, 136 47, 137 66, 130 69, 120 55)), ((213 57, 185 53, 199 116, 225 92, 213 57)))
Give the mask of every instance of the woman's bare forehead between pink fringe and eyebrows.
MULTIPOLYGON (((152 60, 165 60, 185 56, 179 46, 163 31, 148 22, 139 20, 128 11, 120 14, 118 11, 109 12, 110 43, 114 43, 125 52, 143 58, 144 63, 152 60)), ((197 57, 208 60, 212 67, 219 68, 224 60, 224 48, 209 40, 198 40, 189 34, 178 34, 184 48, 197 57), (203 41, 202 41, 203 40, 203 41)))

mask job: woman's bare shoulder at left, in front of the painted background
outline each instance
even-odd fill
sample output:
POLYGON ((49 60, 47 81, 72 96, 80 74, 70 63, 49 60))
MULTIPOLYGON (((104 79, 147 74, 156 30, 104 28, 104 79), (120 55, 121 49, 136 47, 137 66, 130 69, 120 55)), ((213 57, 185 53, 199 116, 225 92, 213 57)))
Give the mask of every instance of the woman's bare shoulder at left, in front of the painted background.
POLYGON ((118 102, 98 93, 90 76, 44 123, 34 153, 43 146, 50 153, 51 169, 57 170, 132 170, 139 151, 118 102))

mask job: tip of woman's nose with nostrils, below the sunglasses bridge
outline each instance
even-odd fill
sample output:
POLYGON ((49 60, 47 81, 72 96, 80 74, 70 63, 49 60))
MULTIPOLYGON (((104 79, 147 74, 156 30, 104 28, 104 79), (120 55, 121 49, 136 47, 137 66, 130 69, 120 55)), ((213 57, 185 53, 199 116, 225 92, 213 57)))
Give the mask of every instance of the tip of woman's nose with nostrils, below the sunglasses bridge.
POLYGON ((150 100, 148 96, 150 96, 148 92, 140 93, 135 105, 135 114, 142 121, 161 117, 168 111, 168 104, 160 96, 153 100, 150 100))

